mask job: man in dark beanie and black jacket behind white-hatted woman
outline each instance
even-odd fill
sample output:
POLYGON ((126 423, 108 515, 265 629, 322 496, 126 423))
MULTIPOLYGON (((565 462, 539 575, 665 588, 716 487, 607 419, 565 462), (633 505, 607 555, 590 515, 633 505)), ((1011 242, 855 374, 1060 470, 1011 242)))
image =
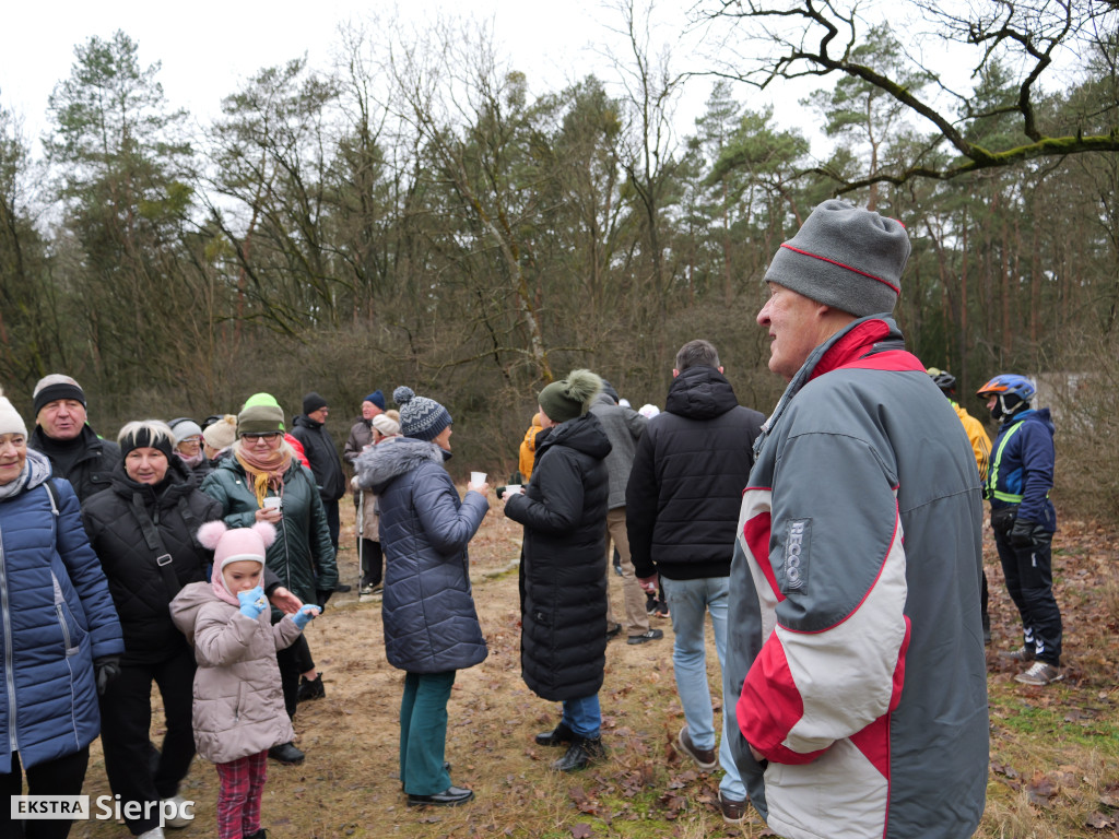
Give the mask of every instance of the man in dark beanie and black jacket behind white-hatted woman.
POLYGON ((28 445, 47 455, 55 478, 69 481, 78 501, 109 489, 121 450, 86 423, 85 392, 77 381, 53 373, 35 385, 32 398, 35 431, 28 445))

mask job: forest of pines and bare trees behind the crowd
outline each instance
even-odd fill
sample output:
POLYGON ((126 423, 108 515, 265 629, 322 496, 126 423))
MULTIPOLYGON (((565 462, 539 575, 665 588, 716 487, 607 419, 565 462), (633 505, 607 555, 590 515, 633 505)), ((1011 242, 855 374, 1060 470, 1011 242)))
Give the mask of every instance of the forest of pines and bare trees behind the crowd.
POLYGON ((839 195, 910 230, 910 349, 980 418, 991 375, 1036 377, 1062 505, 1113 520, 1117 4, 700 0, 687 73, 649 7, 611 10, 609 77, 539 92, 485 25, 370 17, 330 66, 262 67, 205 124, 124 31, 76 45, 41 158, 0 97, 0 384, 30 416, 67 373, 106 436, 258 390, 293 415, 314 389, 339 440, 406 384, 454 415, 452 463, 507 472, 544 384, 589 367, 662 405, 696 337, 768 411, 761 279, 839 195), (801 124, 760 89, 800 97, 801 124))

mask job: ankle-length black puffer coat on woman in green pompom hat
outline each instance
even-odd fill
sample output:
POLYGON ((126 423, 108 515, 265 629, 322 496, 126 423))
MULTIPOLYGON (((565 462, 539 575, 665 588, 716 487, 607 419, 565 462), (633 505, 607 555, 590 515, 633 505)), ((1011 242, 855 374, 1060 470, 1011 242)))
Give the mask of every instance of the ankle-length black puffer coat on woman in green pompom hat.
POLYGON ((525 526, 521 676, 544 699, 581 699, 602 687, 609 453, 594 414, 562 423, 536 450, 526 493, 506 503, 525 526))

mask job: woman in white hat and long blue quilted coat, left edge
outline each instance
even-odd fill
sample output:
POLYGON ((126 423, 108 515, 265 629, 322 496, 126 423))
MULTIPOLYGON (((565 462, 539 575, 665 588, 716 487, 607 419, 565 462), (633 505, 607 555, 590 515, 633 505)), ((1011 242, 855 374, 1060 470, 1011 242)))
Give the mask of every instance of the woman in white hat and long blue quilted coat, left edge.
POLYGON ((58 839, 70 820, 11 820, 9 796, 77 795, 119 671, 121 625, 68 482, 27 447, 0 392, 0 836, 58 839), (21 771, 22 767, 22 771, 21 771))

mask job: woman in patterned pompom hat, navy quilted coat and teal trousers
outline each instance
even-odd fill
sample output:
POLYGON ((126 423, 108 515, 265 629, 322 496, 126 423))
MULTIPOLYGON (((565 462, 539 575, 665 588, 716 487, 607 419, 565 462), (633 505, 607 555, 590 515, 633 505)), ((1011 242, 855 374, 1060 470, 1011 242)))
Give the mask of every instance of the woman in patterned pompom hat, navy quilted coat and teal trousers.
POLYGON ((358 482, 380 499, 385 552, 382 619, 388 663, 404 670, 401 780, 408 807, 454 807, 474 793, 451 784, 443 762, 446 701, 458 670, 486 658, 470 591, 467 544, 489 501, 489 486, 468 483, 461 501, 443 462, 451 453, 451 415, 434 399, 398 387, 403 437, 357 459, 358 482))

